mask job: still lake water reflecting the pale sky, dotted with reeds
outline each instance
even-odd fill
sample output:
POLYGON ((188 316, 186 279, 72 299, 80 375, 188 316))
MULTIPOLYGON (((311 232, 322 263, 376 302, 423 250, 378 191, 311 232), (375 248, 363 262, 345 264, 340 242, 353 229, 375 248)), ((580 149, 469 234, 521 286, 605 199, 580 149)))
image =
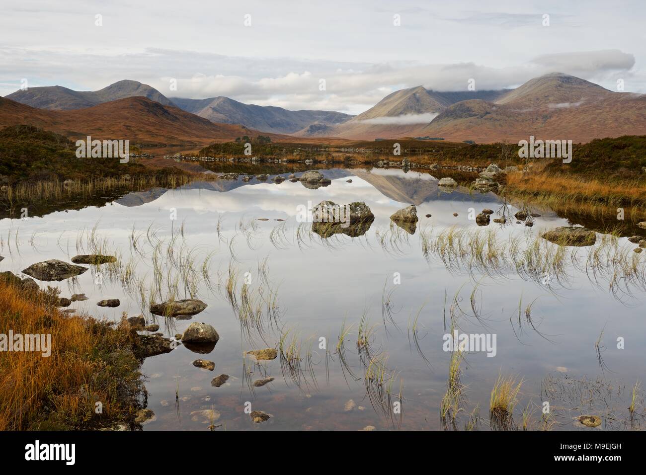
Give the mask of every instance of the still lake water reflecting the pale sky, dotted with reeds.
MULTIPOLYGON (((523 412, 530 428, 543 427, 545 402, 552 430, 581 428, 574 418, 583 414, 600 416, 600 428, 641 427, 627 407, 632 386, 644 376, 644 289, 616 275, 610 286, 609 264, 595 268, 597 275, 591 271, 589 256, 602 246, 601 235, 595 246, 566 248, 562 272, 554 275, 538 264, 524 271, 504 258, 485 265, 472 251, 448 257, 440 249, 447 249, 449 230, 463 232, 464 242, 478 233, 494 236, 510 251, 510 242, 529 247, 546 229, 571 223, 536 208, 534 226, 524 226, 513 218, 517 207, 505 206, 494 193, 442 190, 441 176, 428 173, 322 173, 331 184, 275 184, 273 176, 266 182, 193 182, 129 193, 101 207, 3 219, 6 259, 0 268, 19 273, 34 262, 69 262, 100 248, 118 263, 39 284, 58 286, 61 297, 85 293, 89 300, 70 309, 95 317, 143 313, 166 337, 193 321, 217 330, 220 340, 208 354, 180 345, 145 359, 148 407, 156 416, 144 430, 208 430, 212 423, 216 430, 464 429, 470 421, 487 430, 499 375, 522 380, 508 427, 521 427, 523 412), (322 238, 311 224, 298 222, 297 209, 323 200, 365 202, 375 220, 360 236, 322 238), (410 204, 419 216, 413 234, 390 220, 410 204), (486 208, 494 211, 492 222, 479 227, 474 211, 486 208), (506 224, 493 222, 503 212, 506 224), (424 236, 427 246, 432 243, 427 252, 424 236), (240 321, 245 295, 257 317, 246 325, 240 321), (185 320, 147 311, 149 301, 171 297, 201 299, 208 307, 185 320), (101 299, 121 304, 101 308, 101 299), (466 349, 459 412, 443 420, 452 358, 444 335, 452 322, 459 333, 487 335, 495 348, 466 349), (358 349, 366 333, 369 346, 358 349), (279 356, 255 364, 244 357, 247 350, 278 349, 281 335, 284 346, 300 348, 298 363, 281 364, 279 356), (196 368, 191 363, 198 358, 213 361, 215 369, 196 368), (230 376, 227 383, 211 386, 220 374, 230 376), (251 384, 269 376, 275 379, 265 386, 251 384), (249 407, 271 418, 253 423, 249 407)), ((541 246, 557 248, 545 241, 541 246)), ((621 249, 632 259, 636 245, 620 238, 614 246, 613 252, 621 249)))

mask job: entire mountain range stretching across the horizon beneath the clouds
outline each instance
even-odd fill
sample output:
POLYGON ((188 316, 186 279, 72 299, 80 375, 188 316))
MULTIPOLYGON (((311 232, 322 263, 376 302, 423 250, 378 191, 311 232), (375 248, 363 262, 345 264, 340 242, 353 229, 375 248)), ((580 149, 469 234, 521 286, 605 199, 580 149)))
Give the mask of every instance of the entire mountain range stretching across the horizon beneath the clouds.
POLYGON ((368 111, 351 116, 287 111, 225 97, 169 99, 149 85, 119 81, 94 92, 52 86, 9 94, 0 100, 0 125, 17 123, 69 136, 94 131, 131 140, 188 144, 259 132, 278 134, 275 141, 310 143, 402 137, 517 142, 530 135, 576 143, 646 134, 646 94, 613 92, 585 79, 552 73, 516 89, 441 92, 418 86, 397 90, 368 111))

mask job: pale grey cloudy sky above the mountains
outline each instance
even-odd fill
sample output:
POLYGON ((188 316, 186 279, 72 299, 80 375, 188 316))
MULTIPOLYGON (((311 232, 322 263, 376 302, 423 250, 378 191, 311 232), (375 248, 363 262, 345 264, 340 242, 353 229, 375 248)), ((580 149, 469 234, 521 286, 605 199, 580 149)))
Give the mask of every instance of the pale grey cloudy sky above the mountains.
POLYGON ((0 17, 0 95, 23 78, 135 79, 169 97, 359 113, 404 87, 499 89, 556 71, 646 93, 645 17, 643 0, 21 0, 0 17))

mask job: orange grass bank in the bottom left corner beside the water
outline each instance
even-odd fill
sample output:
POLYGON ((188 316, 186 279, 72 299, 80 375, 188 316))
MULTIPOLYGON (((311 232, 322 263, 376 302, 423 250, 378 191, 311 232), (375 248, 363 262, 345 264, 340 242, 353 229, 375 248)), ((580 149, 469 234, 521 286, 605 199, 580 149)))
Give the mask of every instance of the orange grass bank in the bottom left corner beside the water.
POLYGON ((48 301, 45 292, 0 282, 0 333, 52 335, 49 357, 0 352, 0 430, 95 428, 130 419, 143 385, 129 330, 68 317, 48 301))

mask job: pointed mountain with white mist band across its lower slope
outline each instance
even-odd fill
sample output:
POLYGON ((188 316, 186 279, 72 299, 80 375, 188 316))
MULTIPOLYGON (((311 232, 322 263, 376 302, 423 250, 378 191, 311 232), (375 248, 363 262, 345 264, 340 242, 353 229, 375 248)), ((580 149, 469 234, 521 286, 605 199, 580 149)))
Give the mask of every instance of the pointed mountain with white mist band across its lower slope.
POLYGON ((417 136, 422 127, 450 105, 464 100, 496 100, 508 90, 437 92, 422 86, 397 90, 355 118, 333 131, 301 131, 298 136, 322 136, 326 133, 342 138, 375 140, 417 136))

